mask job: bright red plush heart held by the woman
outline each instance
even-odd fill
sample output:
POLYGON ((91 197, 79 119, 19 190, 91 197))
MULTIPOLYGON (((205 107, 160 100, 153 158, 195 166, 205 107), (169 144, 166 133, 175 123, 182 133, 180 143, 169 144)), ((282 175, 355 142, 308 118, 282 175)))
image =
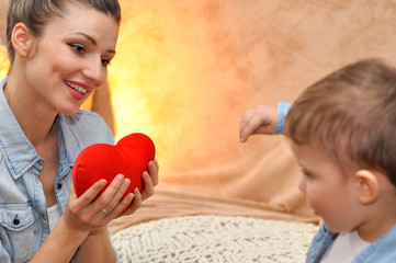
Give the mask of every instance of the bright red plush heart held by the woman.
POLYGON ((147 171, 147 164, 154 160, 155 155, 156 148, 152 140, 144 134, 127 135, 115 146, 95 144, 87 147, 77 157, 72 169, 77 196, 81 196, 101 179, 105 179, 109 185, 120 173, 131 180, 125 195, 132 193, 136 187, 142 191, 142 174, 147 171))

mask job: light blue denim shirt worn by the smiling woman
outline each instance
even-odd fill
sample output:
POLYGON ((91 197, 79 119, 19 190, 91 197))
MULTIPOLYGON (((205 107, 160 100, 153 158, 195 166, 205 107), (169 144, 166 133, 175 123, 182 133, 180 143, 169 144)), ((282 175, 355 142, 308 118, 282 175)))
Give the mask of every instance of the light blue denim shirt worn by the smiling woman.
MULTIPOLYGON (((24 135, 0 82, 0 262, 29 261, 49 235, 47 205, 38 175, 44 160, 24 135)), ((59 168, 54 190, 65 210, 79 152, 92 144, 114 145, 112 133, 95 113, 58 114, 59 168)))

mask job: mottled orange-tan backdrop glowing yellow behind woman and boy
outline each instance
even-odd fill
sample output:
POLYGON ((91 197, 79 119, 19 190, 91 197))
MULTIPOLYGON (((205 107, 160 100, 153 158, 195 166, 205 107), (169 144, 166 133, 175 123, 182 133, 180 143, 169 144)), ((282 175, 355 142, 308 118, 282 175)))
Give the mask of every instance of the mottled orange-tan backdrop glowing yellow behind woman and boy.
POLYGON ((293 102, 346 64, 366 57, 396 61, 396 1, 121 5, 117 55, 109 68, 116 140, 131 133, 152 138, 160 185, 314 217, 296 187, 301 172, 284 138, 254 136, 240 144, 239 119, 258 104, 293 102))

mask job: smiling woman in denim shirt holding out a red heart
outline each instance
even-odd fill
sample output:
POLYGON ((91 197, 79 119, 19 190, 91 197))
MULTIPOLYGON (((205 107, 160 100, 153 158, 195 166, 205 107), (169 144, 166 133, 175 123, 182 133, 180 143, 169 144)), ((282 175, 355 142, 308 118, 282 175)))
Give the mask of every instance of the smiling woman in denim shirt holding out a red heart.
POLYGON ((0 262, 114 262, 106 225, 154 194, 122 174, 77 198, 71 171, 89 145, 113 144, 104 121, 79 111, 106 79, 121 20, 116 0, 11 0, 10 75, 0 87, 0 262))

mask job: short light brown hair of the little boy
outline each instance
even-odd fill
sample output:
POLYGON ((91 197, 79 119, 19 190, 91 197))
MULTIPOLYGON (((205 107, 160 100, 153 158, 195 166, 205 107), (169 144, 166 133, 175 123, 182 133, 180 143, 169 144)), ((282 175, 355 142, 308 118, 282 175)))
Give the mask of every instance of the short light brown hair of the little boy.
POLYGON ((297 98, 285 135, 344 169, 381 171, 396 185, 396 69, 365 59, 325 77, 297 98))

